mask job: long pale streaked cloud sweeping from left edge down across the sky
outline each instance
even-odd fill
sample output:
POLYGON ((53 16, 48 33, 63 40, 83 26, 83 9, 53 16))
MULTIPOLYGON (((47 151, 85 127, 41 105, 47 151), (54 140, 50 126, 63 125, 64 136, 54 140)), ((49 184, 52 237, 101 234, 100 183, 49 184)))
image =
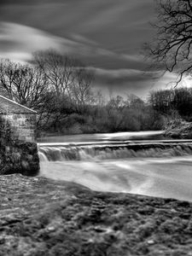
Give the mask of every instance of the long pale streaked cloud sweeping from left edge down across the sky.
POLYGON ((117 54, 112 50, 101 48, 89 38, 76 34, 73 34, 72 40, 53 36, 31 26, 11 22, 1 22, 0 27, 0 55, 15 61, 27 61, 33 51, 50 48, 57 49, 62 54, 74 55, 84 61, 91 59, 98 67, 103 59, 107 62, 106 67, 108 67, 108 62, 113 62, 117 66, 118 63, 125 62, 125 66, 129 66, 132 62, 143 61, 141 55, 117 54))

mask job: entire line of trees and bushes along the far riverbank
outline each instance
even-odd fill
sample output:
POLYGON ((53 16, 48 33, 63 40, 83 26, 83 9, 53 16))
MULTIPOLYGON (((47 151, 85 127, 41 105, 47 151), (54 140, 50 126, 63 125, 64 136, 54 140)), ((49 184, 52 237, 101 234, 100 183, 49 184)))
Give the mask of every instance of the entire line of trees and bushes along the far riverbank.
POLYGON ((173 116, 191 119, 192 90, 151 92, 106 100, 94 73, 71 56, 38 51, 32 63, 0 61, 0 93, 38 111, 38 131, 77 134, 161 130, 173 116))

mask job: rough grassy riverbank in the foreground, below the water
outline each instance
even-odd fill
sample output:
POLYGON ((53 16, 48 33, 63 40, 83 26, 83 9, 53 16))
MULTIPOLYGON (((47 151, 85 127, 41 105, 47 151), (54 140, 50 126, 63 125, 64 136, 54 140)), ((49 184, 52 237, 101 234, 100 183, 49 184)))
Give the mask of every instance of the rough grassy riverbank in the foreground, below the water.
POLYGON ((0 178, 0 255, 192 255, 189 202, 0 178))

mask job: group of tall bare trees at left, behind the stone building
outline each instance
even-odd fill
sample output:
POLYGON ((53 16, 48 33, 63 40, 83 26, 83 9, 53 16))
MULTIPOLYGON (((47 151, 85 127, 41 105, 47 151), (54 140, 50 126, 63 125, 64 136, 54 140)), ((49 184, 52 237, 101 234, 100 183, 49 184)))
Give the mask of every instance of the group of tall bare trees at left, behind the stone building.
POLYGON ((30 65, 0 61, 0 93, 38 111, 38 130, 58 129, 94 103, 94 75, 79 60, 54 50, 34 53, 30 65))

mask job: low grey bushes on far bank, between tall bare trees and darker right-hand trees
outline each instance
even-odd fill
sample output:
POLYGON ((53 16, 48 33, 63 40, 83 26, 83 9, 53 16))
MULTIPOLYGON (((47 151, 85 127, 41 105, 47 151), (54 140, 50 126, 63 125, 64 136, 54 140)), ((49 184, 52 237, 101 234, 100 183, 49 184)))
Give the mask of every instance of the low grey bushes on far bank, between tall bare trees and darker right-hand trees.
POLYGON ((89 106, 86 113, 72 114, 61 127, 73 133, 148 131, 163 129, 163 119, 137 96, 116 96, 89 106))

